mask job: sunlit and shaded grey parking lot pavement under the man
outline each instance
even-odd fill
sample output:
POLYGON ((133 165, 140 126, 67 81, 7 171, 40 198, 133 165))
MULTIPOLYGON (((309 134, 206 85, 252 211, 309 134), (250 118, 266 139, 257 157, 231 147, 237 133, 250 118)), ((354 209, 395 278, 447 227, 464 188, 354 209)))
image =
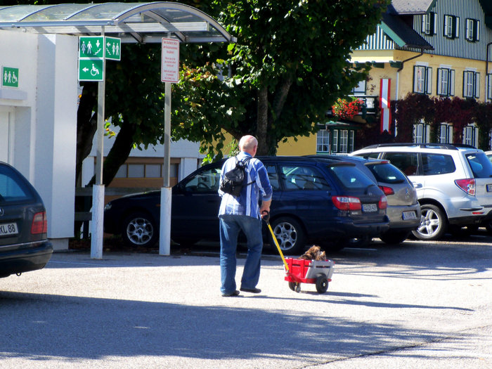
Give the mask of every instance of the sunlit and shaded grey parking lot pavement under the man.
POLYGON ((325 294, 271 255, 261 294, 221 297, 213 253, 53 254, 0 280, 1 367, 492 368, 491 238, 330 257, 325 294))

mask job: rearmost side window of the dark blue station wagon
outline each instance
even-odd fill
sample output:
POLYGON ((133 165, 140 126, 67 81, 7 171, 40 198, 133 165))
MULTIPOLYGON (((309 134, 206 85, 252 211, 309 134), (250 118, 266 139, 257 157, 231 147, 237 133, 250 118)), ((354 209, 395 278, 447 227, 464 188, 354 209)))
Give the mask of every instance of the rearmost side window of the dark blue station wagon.
POLYGON ((286 190, 329 190, 330 185, 314 167, 283 165, 280 169, 286 190))

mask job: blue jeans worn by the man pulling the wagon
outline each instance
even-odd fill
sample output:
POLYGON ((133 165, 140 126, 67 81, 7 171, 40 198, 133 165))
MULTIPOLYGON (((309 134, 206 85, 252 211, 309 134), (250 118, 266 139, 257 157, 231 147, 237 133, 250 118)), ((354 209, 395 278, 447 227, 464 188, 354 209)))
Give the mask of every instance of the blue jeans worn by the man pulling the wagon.
POLYGON ((235 286, 235 252, 238 246, 238 235, 242 230, 247 238, 247 257, 242 271, 241 288, 254 288, 259 280, 261 250, 261 219, 247 215, 222 214, 220 220, 221 236, 221 292, 231 293, 235 286))

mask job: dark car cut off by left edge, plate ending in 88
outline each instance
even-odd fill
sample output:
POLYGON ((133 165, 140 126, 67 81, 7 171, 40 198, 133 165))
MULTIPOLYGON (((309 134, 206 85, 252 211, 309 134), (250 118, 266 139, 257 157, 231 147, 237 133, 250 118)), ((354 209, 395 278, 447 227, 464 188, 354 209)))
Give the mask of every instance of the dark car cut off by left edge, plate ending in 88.
POLYGON ((44 268, 52 253, 41 197, 19 171, 0 162, 0 278, 44 268))

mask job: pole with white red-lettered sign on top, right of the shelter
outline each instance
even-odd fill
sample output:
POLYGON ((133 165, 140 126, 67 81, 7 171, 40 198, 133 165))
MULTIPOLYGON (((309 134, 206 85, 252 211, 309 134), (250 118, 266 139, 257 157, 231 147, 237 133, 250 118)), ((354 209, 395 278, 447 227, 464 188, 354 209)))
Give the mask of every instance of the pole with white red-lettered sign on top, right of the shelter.
POLYGON ((159 254, 171 254, 171 198, 169 182, 171 144, 171 83, 179 81, 179 41, 162 39, 161 81, 164 86, 164 184, 161 188, 159 254))

